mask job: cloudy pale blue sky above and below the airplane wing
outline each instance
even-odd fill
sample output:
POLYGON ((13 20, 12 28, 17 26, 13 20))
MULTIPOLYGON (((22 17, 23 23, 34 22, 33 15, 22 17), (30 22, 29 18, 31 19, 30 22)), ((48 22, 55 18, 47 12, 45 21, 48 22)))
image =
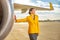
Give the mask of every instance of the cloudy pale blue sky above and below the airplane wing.
MULTIPOLYGON (((49 2, 53 4, 53 11, 36 11, 39 16, 39 20, 60 20, 60 0, 14 0, 14 3, 25 4, 31 6, 39 6, 44 8, 49 8, 49 2)), ((28 16, 28 11, 21 14, 21 10, 14 11, 17 18, 25 18, 28 16)))

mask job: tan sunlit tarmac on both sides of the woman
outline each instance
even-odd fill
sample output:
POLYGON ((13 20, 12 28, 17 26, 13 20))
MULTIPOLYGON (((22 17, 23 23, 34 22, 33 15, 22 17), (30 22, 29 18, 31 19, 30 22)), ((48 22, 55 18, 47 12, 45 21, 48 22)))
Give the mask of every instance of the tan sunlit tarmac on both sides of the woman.
MULTIPOLYGON (((39 22, 39 27, 37 40, 60 40, 60 22, 39 22)), ((14 23, 4 40, 29 40, 28 23, 14 23)))

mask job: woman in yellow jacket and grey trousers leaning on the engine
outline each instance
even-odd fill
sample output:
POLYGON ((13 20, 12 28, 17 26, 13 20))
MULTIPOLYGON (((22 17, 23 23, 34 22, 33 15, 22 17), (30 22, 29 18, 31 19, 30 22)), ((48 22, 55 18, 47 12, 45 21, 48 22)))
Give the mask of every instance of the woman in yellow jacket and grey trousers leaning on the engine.
POLYGON ((35 9, 31 8, 29 10, 29 16, 27 16, 24 19, 15 19, 15 22, 28 22, 29 24, 29 29, 28 29, 28 34, 30 40, 37 40, 37 36, 39 34, 39 26, 38 26, 38 15, 35 14, 35 9))

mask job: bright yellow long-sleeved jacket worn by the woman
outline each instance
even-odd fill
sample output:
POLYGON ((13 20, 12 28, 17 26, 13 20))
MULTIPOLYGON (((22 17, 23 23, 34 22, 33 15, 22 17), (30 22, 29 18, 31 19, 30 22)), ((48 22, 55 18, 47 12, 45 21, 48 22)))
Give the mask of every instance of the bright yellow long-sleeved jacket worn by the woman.
POLYGON ((39 34, 39 25, 38 25, 38 15, 35 15, 35 20, 33 20, 32 15, 27 16, 24 19, 17 19, 16 22, 28 22, 29 28, 28 33, 38 33, 39 34))

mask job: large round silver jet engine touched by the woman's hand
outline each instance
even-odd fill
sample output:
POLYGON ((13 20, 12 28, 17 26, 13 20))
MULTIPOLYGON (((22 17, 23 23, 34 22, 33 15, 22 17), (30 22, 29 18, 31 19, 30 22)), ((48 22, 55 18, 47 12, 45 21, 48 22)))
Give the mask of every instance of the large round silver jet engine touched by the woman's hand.
POLYGON ((0 0, 0 40, 10 32, 13 25, 13 7, 10 0, 0 0))

